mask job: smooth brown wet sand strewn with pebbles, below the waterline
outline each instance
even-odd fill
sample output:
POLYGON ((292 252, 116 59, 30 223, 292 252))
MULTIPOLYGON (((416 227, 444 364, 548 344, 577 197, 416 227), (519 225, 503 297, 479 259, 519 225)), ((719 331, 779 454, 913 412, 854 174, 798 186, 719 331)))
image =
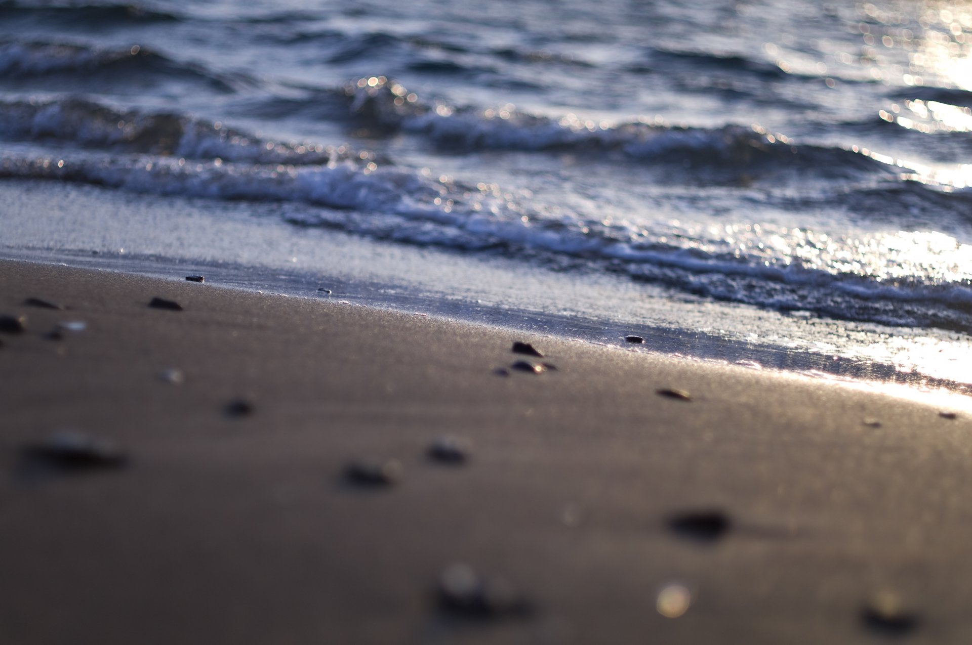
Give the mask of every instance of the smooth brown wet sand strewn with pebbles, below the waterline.
POLYGON ((338 298, 0 261, 0 641, 972 641, 961 407, 338 298))

